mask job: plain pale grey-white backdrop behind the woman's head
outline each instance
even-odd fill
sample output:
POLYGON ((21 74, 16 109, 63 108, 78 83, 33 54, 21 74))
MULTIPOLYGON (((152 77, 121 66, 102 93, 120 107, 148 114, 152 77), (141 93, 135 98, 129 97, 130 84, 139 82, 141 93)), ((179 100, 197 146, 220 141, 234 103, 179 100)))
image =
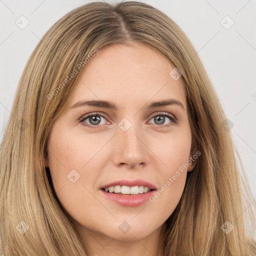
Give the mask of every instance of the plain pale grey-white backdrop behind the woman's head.
MULTIPOLYGON (((0 0, 0 139, 18 80, 35 45, 61 16, 87 2, 0 0)), ((143 2, 173 19, 198 52, 230 120, 233 140, 255 199, 256 0, 143 2)))

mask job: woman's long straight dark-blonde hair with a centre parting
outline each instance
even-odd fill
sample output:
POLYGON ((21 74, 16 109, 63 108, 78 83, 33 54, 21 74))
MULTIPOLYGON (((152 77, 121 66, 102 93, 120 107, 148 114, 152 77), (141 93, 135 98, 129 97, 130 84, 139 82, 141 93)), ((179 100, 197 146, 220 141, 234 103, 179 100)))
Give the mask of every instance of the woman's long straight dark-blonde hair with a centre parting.
POLYGON ((0 146, 4 255, 87 255, 45 169, 52 153, 46 150, 47 137, 86 68, 84 59, 106 45, 131 42, 158 50, 181 71, 191 132, 201 152, 166 221, 164 256, 256 255, 246 226, 254 221, 252 195, 200 58, 172 19, 137 1, 91 2, 73 9, 45 33, 29 57, 0 146), (78 63, 83 63, 80 69, 78 63), (74 68, 77 74, 60 86, 74 68), (225 221, 234 227, 228 234, 221 228, 225 221))

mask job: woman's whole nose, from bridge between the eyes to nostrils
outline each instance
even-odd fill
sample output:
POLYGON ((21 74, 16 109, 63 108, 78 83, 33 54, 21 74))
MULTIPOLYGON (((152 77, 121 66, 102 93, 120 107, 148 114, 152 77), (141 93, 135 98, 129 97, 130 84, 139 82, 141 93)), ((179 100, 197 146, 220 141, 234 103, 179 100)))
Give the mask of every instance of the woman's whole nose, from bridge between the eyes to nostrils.
POLYGON ((145 136, 140 124, 135 123, 136 118, 123 119, 119 122, 114 145, 114 163, 134 166, 146 163, 148 149, 145 136))

